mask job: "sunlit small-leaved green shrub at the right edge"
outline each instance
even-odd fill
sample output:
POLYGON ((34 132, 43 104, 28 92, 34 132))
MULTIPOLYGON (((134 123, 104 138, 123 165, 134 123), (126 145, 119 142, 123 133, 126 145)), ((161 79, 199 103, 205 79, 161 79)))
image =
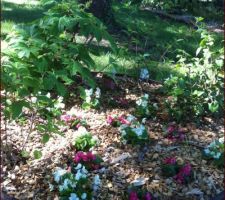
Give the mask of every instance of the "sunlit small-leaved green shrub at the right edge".
POLYGON ((205 115, 221 115, 223 111, 223 48, 213 50, 214 40, 200 29, 202 40, 196 57, 179 56, 177 67, 184 77, 173 76, 165 81, 170 98, 165 102, 170 116, 178 121, 198 119, 205 115))

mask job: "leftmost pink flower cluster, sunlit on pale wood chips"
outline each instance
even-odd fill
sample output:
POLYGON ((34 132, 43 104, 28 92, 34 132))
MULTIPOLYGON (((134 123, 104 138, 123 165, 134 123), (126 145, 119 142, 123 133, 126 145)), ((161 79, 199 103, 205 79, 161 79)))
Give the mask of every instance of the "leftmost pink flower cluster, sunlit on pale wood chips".
POLYGON ((81 126, 87 127, 87 123, 80 116, 64 114, 60 117, 61 121, 63 121, 68 126, 78 129, 81 126))

